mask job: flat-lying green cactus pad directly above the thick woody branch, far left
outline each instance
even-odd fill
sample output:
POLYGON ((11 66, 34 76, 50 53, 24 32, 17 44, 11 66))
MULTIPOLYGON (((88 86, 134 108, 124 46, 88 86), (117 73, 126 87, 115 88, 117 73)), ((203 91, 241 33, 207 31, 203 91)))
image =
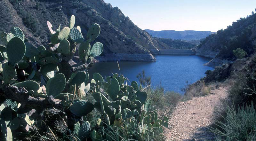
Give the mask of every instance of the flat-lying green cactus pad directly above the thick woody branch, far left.
POLYGON ((26 90, 34 90, 34 91, 37 91, 40 89, 40 85, 35 82, 35 81, 23 81, 23 82, 19 82, 19 83, 15 83, 13 84, 12 86, 17 86, 18 88, 20 87, 24 87, 26 88, 26 90))

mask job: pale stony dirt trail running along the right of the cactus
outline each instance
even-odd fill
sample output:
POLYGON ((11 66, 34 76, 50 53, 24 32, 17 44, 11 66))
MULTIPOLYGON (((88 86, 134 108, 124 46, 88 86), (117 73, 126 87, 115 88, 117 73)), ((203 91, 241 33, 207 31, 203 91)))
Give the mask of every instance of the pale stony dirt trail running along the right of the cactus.
POLYGON ((228 87, 211 90, 205 97, 196 97, 186 102, 179 102, 165 130, 167 141, 205 141, 213 140, 207 126, 213 123, 214 108, 221 106, 220 98, 227 98, 228 87))

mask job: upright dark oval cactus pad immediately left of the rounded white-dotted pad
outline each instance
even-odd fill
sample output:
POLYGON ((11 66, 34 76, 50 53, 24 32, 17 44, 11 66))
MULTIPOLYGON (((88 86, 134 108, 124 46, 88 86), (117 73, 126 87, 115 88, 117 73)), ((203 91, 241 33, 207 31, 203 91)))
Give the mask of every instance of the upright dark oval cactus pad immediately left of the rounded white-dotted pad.
POLYGON ((79 49, 78 49, 78 55, 82 61, 84 61, 84 62, 87 61, 87 58, 90 53, 90 49, 91 49, 91 45, 89 42, 83 42, 80 44, 79 49))

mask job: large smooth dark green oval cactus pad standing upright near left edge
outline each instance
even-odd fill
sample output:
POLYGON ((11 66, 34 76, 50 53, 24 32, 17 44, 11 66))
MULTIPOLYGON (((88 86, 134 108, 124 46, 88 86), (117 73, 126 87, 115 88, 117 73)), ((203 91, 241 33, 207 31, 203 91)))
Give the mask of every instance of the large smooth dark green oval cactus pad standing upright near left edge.
POLYGON ((26 51, 25 43, 19 38, 12 38, 6 47, 6 52, 8 59, 12 65, 20 62, 20 60, 24 57, 26 51))

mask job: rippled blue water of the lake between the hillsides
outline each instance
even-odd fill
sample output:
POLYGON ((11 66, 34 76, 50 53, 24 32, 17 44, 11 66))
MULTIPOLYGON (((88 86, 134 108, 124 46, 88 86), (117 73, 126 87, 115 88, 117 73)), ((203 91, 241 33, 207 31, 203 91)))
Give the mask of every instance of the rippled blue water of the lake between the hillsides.
MULTIPOLYGON (((210 58, 200 56, 173 56, 157 55, 156 62, 118 62, 120 72, 130 82, 137 81, 136 75, 145 70, 147 76, 151 76, 151 86, 156 87, 160 82, 165 90, 183 94, 186 82, 193 83, 204 77, 204 72, 214 68, 203 66, 210 58)), ((112 73, 120 74, 117 62, 98 62, 89 69, 90 78, 94 72, 100 73, 103 78, 112 76, 112 73)), ((129 83, 129 82, 128 82, 129 83)))

